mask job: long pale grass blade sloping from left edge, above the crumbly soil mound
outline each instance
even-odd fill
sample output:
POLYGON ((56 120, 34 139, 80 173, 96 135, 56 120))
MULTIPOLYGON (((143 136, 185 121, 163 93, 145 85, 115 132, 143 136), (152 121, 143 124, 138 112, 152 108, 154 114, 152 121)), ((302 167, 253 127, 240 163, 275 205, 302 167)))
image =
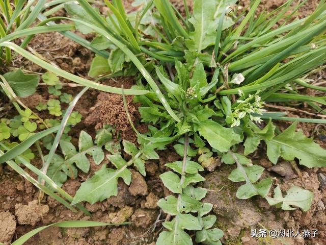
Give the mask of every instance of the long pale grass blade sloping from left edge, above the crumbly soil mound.
MULTIPOLYGON (((111 86, 102 85, 102 84, 87 80, 85 78, 81 78, 76 75, 70 74, 69 72, 62 70, 58 67, 55 67, 55 66, 45 62, 44 60, 41 60, 40 58, 30 54, 28 51, 23 50, 23 48, 19 47, 18 45, 14 44, 14 43, 3 42, 3 43, 0 43, 0 46, 10 47, 12 50, 14 50, 18 54, 22 55, 23 57, 29 59, 30 61, 34 62, 35 64, 38 64, 39 66, 43 67, 44 69, 52 71, 53 73, 57 74, 58 76, 66 78, 70 81, 76 82, 78 84, 82 84, 86 87, 95 88, 95 89, 98 89, 101 91, 122 94, 121 88, 115 88, 115 87, 111 87, 111 86)), ((137 59, 137 57, 135 57, 135 59, 137 59)), ((129 94, 129 95, 140 95, 140 94, 146 94, 148 91, 147 90, 125 89, 124 92, 125 92, 125 94, 129 94)))

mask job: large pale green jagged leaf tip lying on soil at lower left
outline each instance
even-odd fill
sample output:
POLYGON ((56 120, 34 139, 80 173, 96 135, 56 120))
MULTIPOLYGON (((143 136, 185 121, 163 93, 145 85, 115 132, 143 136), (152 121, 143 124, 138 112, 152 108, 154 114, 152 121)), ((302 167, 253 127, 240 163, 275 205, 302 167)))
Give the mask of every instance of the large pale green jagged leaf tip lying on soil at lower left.
POLYGON ((71 205, 82 201, 94 204, 110 198, 112 195, 117 195, 118 178, 127 175, 131 178, 131 172, 125 167, 114 170, 103 165, 100 170, 95 172, 91 179, 82 183, 71 205))

